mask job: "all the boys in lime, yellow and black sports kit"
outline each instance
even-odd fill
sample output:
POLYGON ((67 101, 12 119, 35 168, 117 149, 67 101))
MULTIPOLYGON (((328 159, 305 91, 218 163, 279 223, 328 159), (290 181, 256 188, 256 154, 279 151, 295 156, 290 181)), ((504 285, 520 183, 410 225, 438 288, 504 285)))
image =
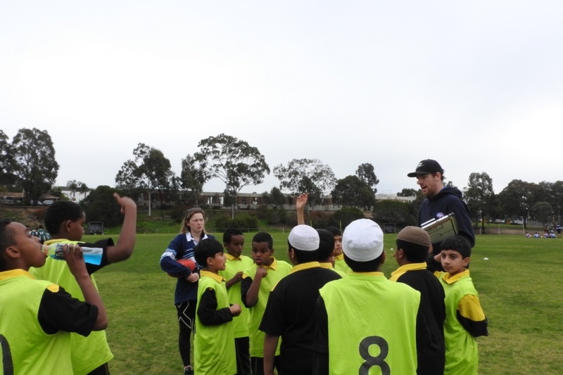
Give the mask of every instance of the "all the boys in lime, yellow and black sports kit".
MULTIPOLYGON (((66 261, 46 258, 23 224, 0 221, 4 374, 109 374, 107 314, 93 274, 129 258, 137 217, 132 200, 115 199, 125 214, 117 244, 81 242, 85 217, 79 205, 49 207, 45 224, 52 239, 46 245, 65 243, 66 261), (80 246, 102 248, 101 263, 84 263, 80 246)), ((356 220, 343 234, 312 229, 300 216, 306 199, 298 197, 298 225, 288 237, 291 264, 275 258, 270 234, 253 236, 248 257, 241 231, 225 231, 220 243, 203 232, 203 212, 189 217, 201 229, 196 241, 190 234, 195 247, 189 254, 199 270, 175 264, 176 277, 198 281, 190 281, 196 287, 190 297, 195 369, 188 371, 369 374, 377 367, 382 374, 476 374, 475 338, 488 331, 467 269, 469 242, 445 239, 434 257, 444 272, 432 274, 425 262, 428 234, 405 227, 393 253, 399 267, 387 279, 377 223, 356 220)), ((166 254, 165 260, 178 253, 166 254)))

